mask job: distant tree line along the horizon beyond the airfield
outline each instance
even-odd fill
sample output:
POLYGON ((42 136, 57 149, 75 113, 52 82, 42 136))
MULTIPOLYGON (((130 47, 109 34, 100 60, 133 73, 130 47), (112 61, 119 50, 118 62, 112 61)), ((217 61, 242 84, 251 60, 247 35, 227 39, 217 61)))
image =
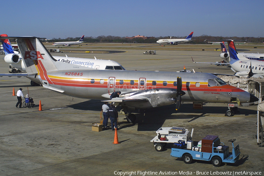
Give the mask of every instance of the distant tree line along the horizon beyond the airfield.
MULTIPOLYGON (((180 37, 180 36, 172 36, 172 39, 175 38, 186 38, 187 36, 180 37)), ((51 40, 48 40, 48 42, 62 42, 62 41, 77 41, 81 37, 68 37, 66 39, 62 38, 53 38, 51 40)), ((84 37, 84 41, 87 43, 156 43, 159 39, 168 39, 170 36, 160 36, 160 37, 150 37, 148 39, 142 39, 142 38, 133 38, 128 39, 126 37, 118 37, 118 36, 104 36, 100 35, 98 37, 84 37)), ((222 37, 222 36, 210 36, 210 35, 201 35, 197 37, 192 37, 192 41, 189 43, 192 44, 205 44, 204 40, 248 40, 249 43, 263 43, 264 37, 222 37)))

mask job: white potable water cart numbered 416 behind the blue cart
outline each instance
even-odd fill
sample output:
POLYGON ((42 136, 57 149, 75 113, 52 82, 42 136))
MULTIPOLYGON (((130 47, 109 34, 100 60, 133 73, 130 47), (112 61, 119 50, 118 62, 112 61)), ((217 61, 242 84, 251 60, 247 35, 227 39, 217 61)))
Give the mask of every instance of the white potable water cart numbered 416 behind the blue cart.
POLYGON ((167 143, 186 144, 187 141, 192 139, 193 128, 191 134, 189 132, 189 130, 182 127, 162 127, 156 131, 157 136, 150 142, 153 142, 155 149, 160 152, 167 143))

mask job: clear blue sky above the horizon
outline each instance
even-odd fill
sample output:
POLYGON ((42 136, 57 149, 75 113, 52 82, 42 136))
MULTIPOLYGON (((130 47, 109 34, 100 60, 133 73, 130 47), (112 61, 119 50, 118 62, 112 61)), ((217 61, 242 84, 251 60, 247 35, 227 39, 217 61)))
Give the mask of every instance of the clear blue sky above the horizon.
POLYGON ((263 0, 3 1, 0 33, 47 39, 112 36, 264 37, 263 0))

